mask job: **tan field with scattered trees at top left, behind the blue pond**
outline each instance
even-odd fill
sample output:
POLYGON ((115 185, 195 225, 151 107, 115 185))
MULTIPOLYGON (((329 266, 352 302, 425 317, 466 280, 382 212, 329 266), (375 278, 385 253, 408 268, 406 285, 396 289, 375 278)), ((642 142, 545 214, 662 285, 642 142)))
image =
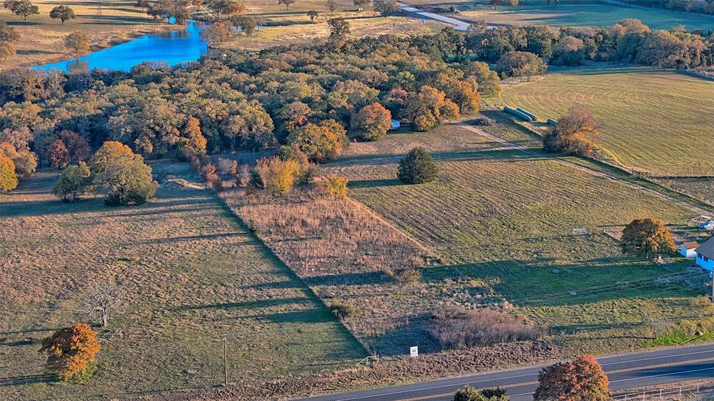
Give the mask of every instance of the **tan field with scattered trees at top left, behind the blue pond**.
POLYGON ((64 37, 74 31, 83 31, 89 36, 92 50, 104 49, 138 36, 156 31, 176 29, 162 21, 154 21, 146 12, 134 7, 136 1, 98 0, 44 0, 33 1, 40 14, 27 17, 12 15, 0 9, 0 19, 14 27, 21 35, 17 54, 0 64, 0 68, 34 66, 51 61, 67 59, 64 37), (59 5, 70 6, 77 19, 65 21, 49 18, 49 12, 59 5))

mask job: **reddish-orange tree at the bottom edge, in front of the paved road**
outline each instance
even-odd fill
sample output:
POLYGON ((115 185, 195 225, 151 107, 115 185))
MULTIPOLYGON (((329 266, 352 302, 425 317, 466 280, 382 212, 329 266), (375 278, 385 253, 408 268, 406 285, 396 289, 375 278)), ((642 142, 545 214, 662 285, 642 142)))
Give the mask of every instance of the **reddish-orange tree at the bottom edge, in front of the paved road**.
POLYGON ((538 374, 534 401, 607 401, 608 377, 593 355, 545 367, 538 374))

